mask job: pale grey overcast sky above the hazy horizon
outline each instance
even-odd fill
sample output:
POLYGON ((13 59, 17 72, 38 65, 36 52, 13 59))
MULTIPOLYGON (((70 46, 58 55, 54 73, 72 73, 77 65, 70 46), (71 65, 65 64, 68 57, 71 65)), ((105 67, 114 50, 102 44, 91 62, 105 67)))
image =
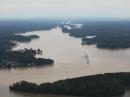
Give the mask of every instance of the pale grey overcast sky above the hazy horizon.
POLYGON ((0 0, 0 18, 130 17, 130 0, 0 0))

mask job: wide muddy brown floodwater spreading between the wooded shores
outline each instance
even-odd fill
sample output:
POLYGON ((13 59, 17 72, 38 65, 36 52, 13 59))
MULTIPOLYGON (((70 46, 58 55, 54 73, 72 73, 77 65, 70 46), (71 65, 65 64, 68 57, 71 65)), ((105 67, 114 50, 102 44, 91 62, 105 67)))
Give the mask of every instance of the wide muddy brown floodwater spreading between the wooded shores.
MULTIPOLYGON (((0 97, 66 97, 10 92, 8 86, 13 82, 26 80, 43 83, 66 78, 86 76, 106 72, 129 72, 130 49, 103 50, 96 46, 82 46, 80 38, 70 37, 57 27, 52 30, 27 32, 40 38, 30 43, 18 43, 13 50, 40 48, 43 55, 37 57, 52 58, 54 65, 14 68, 0 70, 0 97)), ((90 36, 91 37, 91 36, 90 36)), ((126 91, 124 97, 129 97, 126 91)))

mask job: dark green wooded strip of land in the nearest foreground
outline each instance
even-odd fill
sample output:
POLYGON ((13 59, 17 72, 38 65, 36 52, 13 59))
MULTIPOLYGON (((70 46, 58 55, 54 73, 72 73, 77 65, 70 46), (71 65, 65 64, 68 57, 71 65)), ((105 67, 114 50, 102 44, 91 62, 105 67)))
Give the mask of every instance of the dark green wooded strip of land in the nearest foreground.
POLYGON ((21 81, 9 88, 12 91, 33 92, 43 94, 111 97, 124 95, 125 89, 130 87, 130 73, 106 73, 67 80, 54 83, 35 84, 21 81))

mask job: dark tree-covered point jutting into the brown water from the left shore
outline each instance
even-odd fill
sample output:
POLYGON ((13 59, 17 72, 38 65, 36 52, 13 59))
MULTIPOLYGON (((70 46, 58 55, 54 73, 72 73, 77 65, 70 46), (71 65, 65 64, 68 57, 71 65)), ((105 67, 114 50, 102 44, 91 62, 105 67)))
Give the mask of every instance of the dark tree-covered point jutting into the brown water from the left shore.
POLYGON ((0 67, 18 67, 53 64, 52 59, 35 58, 38 50, 25 49, 11 52, 1 52, 0 67))

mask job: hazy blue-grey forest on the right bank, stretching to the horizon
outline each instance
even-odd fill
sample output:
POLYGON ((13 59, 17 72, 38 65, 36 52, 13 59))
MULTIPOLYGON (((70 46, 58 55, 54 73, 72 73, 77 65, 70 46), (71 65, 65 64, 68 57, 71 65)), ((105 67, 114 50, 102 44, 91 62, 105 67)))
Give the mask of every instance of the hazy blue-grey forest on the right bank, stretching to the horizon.
MULTIPOLYGON (((74 22, 74 21, 73 21, 74 22)), ((75 23, 75 22, 74 22, 75 23)), ((130 21, 80 21, 83 26, 79 29, 68 29, 65 24, 61 27, 64 33, 82 38, 82 45, 96 45, 103 49, 130 48, 130 21), (89 36, 95 36, 88 38, 89 36)))

